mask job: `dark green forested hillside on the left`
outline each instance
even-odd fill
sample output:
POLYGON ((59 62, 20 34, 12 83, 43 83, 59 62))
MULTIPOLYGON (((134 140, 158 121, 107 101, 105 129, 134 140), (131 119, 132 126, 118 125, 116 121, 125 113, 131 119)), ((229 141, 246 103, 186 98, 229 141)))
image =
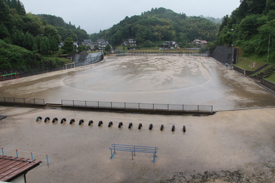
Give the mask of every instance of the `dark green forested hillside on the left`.
POLYGON ((85 30, 65 23, 60 17, 26 14, 21 1, 0 0, 0 69, 62 66, 66 61, 57 58, 57 54, 74 52, 73 41, 87 38, 85 30), (59 43, 65 40, 70 42, 70 51, 65 47, 59 50, 59 43))

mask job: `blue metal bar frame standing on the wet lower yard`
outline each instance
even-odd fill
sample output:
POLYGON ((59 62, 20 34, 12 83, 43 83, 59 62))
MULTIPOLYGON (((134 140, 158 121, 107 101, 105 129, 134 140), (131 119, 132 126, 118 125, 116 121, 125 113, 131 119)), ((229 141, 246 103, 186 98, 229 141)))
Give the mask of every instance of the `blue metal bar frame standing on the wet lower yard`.
POLYGON ((154 160, 153 162, 156 162, 156 150, 158 150, 157 147, 148 147, 148 146, 134 146, 134 145, 124 145, 124 144, 112 144, 112 147, 109 148, 111 150, 111 158, 114 158, 114 155, 116 155, 116 151, 130 151, 132 152, 132 160, 134 160, 134 155, 136 155, 136 152, 139 153, 154 153, 154 160), (113 153, 114 151, 114 153, 113 153))

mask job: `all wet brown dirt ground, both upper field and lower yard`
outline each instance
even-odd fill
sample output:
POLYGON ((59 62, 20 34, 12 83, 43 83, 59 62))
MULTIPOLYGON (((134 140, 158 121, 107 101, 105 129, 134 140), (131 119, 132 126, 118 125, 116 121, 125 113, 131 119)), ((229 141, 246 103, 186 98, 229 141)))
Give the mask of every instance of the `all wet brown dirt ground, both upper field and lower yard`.
MULTIPOLYGON (((214 110, 274 106, 273 92, 203 57, 106 57, 74 71, 6 82, 1 84, 0 94, 45 98, 46 103, 101 100, 214 105, 214 110)), ((19 157, 30 158, 28 152, 32 151, 34 159, 43 162, 27 173, 28 182, 275 180, 272 107, 218 111, 213 116, 0 107, 0 115, 8 116, 0 120, 0 145, 6 155, 15 156, 14 149, 19 149, 19 157), (37 116, 43 119, 36 122, 37 116), (45 117, 50 122, 44 122, 45 117), (52 118, 59 121, 52 123, 52 118), (67 122, 61 124, 61 118, 67 122), (76 122, 70 125, 72 118, 76 122), (83 125, 79 125, 81 119, 83 125), (94 121, 92 126, 88 126, 89 120, 94 121), (102 127, 98 127, 99 120, 102 127), (110 121, 112 127, 108 127, 110 121), (123 122, 122 128, 118 128, 119 122, 123 122), (129 122, 132 129, 128 129, 129 122), (143 124, 140 130, 139 123, 143 124), (175 131, 171 131, 172 125, 175 131), (158 147, 156 162, 152 162, 152 154, 136 153, 132 160, 132 154, 123 151, 111 160, 113 143, 158 147), (50 164, 46 164, 45 153, 50 164)))

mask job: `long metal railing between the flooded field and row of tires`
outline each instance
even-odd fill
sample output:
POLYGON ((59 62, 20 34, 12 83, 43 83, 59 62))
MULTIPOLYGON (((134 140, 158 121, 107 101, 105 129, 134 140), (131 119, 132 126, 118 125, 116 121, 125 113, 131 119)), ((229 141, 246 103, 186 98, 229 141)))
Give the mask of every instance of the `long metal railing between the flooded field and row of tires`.
POLYGON ((163 111, 207 111, 212 112, 212 105, 171 105, 151 103, 116 103, 86 100, 61 100, 63 106, 97 107, 114 109, 140 109, 140 110, 163 110, 163 111))

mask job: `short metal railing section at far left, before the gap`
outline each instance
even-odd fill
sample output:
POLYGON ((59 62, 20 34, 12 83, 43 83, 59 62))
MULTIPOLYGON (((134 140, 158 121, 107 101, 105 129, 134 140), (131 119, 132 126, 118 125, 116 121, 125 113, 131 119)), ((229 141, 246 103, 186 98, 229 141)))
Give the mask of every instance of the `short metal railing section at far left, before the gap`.
POLYGON ((22 104, 44 105, 45 104, 45 100, 41 99, 41 98, 0 97, 0 103, 22 103, 22 104))

